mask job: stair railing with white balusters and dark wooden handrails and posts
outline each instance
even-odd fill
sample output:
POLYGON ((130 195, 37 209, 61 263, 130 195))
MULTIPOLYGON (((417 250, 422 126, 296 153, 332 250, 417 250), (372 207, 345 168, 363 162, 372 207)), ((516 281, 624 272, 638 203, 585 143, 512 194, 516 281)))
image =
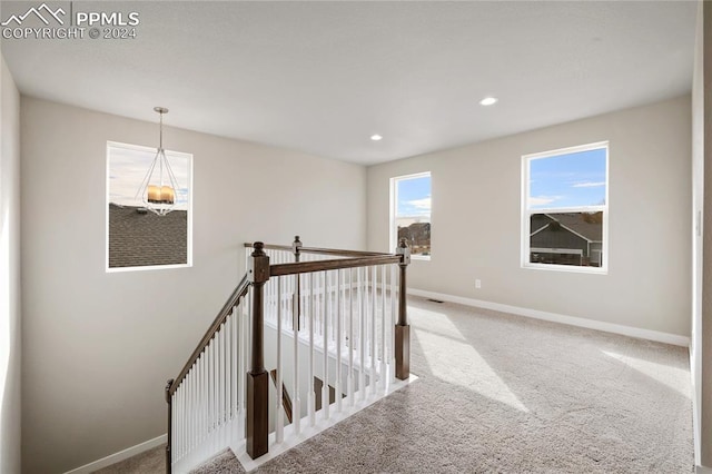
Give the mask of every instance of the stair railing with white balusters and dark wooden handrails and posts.
MULTIPOLYGON (((174 466, 177 471, 192 467, 235 446, 236 440, 245 441, 253 460, 268 452, 266 327, 270 343, 276 339, 276 354, 268 355, 277 387, 287 387, 284 353, 291 352, 290 435, 301 431, 303 388, 305 423, 313 427, 317 412, 320 419, 330 418, 332 399, 338 413, 342 399, 353 407, 387 391, 395 378, 409 377, 405 287, 409 249, 405 240, 395 254, 309 248, 299 237, 291 246, 255 243, 245 247, 251 250, 247 274, 179 376, 166 387, 168 473, 174 466), (288 338, 291 346, 283 344, 288 338), (308 382, 301 387, 300 361, 304 364, 305 357, 300 354, 305 352, 308 382), (323 381, 322 409, 316 408, 315 381, 323 381)), ((274 414, 277 444, 285 436, 281 395, 276 396, 274 414)))

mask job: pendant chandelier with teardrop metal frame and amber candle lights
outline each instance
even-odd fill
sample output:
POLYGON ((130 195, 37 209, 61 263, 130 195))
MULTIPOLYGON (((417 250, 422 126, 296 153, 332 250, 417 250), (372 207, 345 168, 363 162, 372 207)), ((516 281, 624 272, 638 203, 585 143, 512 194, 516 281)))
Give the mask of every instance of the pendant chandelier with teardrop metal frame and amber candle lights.
POLYGON ((146 209, 158 216, 165 216, 176 206, 178 181, 164 150, 164 113, 168 113, 168 109, 154 107, 154 110, 160 115, 158 149, 136 196, 137 198, 140 196, 146 209))

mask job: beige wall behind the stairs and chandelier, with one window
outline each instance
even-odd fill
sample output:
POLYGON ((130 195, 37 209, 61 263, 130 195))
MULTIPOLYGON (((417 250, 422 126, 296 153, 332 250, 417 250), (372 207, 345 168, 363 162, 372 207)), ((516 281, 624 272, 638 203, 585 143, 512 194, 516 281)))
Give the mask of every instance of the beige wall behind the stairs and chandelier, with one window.
POLYGON ((27 97, 21 111, 23 472, 166 432, 166 379, 244 273, 243 243, 365 247, 363 167, 167 128, 166 148, 194 154, 194 267, 107 274, 106 141, 156 146, 157 125, 27 97))

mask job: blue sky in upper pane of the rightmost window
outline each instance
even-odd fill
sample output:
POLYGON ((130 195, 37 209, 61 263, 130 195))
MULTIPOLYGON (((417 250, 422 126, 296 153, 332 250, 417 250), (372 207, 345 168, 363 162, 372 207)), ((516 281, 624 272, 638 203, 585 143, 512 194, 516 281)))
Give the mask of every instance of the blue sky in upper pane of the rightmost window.
POLYGON ((606 148, 530 160, 530 209, 605 205, 606 148))

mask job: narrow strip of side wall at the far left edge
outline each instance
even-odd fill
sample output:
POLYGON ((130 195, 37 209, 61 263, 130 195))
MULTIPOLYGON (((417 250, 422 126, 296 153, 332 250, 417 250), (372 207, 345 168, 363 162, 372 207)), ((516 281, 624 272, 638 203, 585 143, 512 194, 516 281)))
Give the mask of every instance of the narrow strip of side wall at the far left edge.
POLYGON ((0 65, 0 472, 20 472, 20 93, 0 65))

